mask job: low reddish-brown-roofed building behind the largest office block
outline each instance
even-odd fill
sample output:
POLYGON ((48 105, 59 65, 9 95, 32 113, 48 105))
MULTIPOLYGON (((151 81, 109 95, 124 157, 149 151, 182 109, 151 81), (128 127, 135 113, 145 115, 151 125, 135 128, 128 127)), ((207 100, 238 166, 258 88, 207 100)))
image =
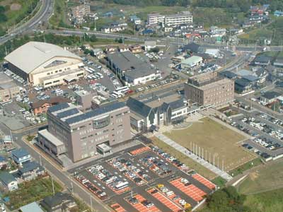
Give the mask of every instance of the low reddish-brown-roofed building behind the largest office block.
POLYGON ((49 107, 58 105, 59 103, 63 102, 71 102, 71 100, 62 96, 52 97, 47 100, 39 100, 37 102, 31 103, 31 110, 33 110, 33 114, 38 115, 46 113, 49 107))

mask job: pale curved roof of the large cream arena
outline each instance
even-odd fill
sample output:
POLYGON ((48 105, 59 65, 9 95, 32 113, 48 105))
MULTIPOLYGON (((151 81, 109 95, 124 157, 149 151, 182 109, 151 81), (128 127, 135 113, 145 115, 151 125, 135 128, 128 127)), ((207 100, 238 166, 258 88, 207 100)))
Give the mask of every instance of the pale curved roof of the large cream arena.
POLYGON ((54 57, 81 59, 62 47, 46 42, 28 42, 8 54, 5 59, 25 73, 31 73, 38 66, 54 57))

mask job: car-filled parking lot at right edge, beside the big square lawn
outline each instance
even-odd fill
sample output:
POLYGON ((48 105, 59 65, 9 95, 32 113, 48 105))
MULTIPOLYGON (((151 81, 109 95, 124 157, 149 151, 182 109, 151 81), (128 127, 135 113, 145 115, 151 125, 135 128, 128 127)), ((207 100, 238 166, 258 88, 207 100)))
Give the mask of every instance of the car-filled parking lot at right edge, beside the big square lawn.
POLYGON ((232 119, 231 125, 253 136, 243 147, 265 159, 282 154, 282 121, 258 111, 241 112, 232 119))

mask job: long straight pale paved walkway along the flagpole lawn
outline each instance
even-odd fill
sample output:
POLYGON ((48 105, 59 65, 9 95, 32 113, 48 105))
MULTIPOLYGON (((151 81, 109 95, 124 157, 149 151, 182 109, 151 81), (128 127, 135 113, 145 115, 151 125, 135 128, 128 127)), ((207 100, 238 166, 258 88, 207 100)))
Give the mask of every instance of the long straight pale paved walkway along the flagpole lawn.
POLYGON ((183 153, 184 155, 187 155, 187 157, 192 158, 192 160, 195 160, 197 163, 200 163, 200 165, 203 165, 207 169, 211 170, 214 172, 216 175, 221 176, 222 178, 226 179, 227 181, 230 181, 233 177, 229 175, 227 172, 224 172, 223 170, 220 170, 218 167, 208 163, 206 160, 200 158, 199 156, 195 155, 194 153, 191 153, 190 151, 187 151, 187 149, 183 146, 180 146, 180 144, 175 143, 175 141, 172 141, 168 137, 164 136, 161 133, 156 133, 155 136, 163 141, 164 143, 167 143, 168 145, 172 146, 175 148, 175 150, 183 153))

